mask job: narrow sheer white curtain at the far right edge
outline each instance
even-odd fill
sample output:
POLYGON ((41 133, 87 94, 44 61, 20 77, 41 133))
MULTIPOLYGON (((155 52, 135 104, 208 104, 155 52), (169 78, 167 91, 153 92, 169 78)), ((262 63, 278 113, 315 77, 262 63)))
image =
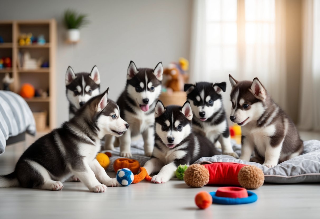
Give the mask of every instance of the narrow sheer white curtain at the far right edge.
POLYGON ((320 1, 304 0, 302 5, 299 127, 320 131, 320 1))

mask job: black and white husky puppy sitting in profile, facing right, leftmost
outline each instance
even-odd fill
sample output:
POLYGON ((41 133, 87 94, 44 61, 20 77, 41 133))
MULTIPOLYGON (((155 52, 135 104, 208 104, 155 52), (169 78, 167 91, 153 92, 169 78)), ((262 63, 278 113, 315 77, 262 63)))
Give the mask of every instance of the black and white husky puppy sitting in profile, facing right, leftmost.
POLYGON ((129 125, 119 107, 107 99, 109 88, 86 102, 68 122, 36 140, 21 155, 14 172, 0 176, 0 188, 60 190, 62 182, 76 175, 90 192, 119 186, 95 159, 100 139, 106 134, 121 136, 129 125))

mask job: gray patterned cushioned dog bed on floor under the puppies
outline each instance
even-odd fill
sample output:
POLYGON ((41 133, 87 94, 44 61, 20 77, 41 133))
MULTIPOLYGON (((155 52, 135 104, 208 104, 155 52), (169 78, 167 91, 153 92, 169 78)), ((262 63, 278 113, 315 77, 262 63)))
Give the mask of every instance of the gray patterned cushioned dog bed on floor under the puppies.
MULTIPOLYGON (((311 183, 320 182, 320 141, 308 140, 304 141, 304 151, 302 155, 296 156, 288 161, 282 162, 273 168, 267 168, 260 163, 246 162, 236 159, 228 155, 215 155, 212 157, 202 157, 195 163, 204 161, 210 162, 237 162, 244 164, 252 164, 263 170, 265 174, 265 182, 269 183, 311 183)), ((234 151, 240 155, 241 146, 233 142, 234 151)), ((113 171, 113 163, 119 156, 119 147, 115 151, 110 151, 110 165, 107 171, 113 171)), ((133 141, 131 146, 132 159, 138 160, 140 165, 149 159, 144 156, 143 141, 133 141)))

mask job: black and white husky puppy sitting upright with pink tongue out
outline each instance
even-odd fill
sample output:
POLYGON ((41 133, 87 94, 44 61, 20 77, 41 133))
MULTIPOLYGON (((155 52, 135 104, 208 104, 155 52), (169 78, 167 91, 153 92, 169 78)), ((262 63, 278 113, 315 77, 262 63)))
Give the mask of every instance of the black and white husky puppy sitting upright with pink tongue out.
MULTIPOLYGON (((145 155, 151 156, 154 146, 154 112, 161 93, 162 74, 161 62, 154 69, 137 68, 134 62, 130 62, 127 84, 117 101, 120 116, 131 127, 119 138, 120 156, 132 157, 131 137, 139 134, 143 137, 145 155)), ((114 142, 113 136, 107 135, 104 148, 113 150, 114 142)))

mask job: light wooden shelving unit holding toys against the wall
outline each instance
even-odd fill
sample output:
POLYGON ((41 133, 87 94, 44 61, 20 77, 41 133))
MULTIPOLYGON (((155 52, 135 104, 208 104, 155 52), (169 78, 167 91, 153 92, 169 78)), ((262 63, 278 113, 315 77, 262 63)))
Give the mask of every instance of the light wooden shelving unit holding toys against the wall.
POLYGON ((56 127, 56 46, 57 46, 57 24, 54 19, 50 20, 11 20, 0 21, 0 35, 4 43, 0 43, 0 57, 11 57, 12 68, 0 69, 0 88, 4 73, 9 72, 14 78, 11 86, 12 91, 20 93, 20 87, 24 83, 32 84, 36 89, 41 88, 48 91, 48 97, 26 98, 32 111, 47 111, 47 128, 56 127), (38 36, 43 34, 46 40, 44 45, 31 44, 20 46, 20 33, 29 33, 38 36), (31 58, 42 57, 49 62, 49 68, 23 69, 18 64, 19 52, 28 51, 31 58))

